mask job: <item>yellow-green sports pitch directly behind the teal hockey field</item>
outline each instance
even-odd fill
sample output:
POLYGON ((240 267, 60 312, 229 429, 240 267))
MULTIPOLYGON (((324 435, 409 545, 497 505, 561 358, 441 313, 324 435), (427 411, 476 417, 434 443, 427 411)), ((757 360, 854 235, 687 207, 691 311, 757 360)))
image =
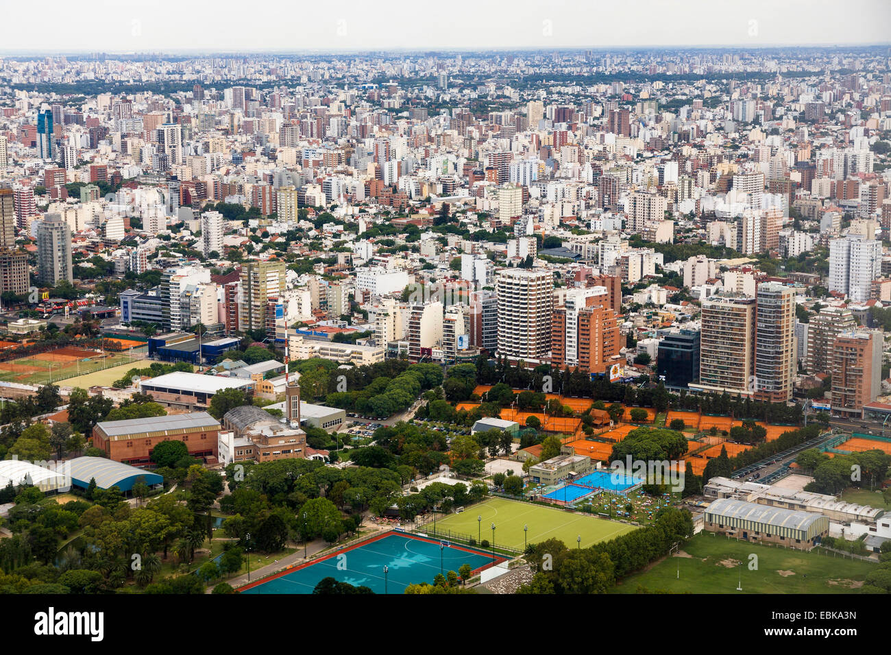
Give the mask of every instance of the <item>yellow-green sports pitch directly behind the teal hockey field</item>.
POLYGON ((523 548, 524 525, 529 528, 527 531, 529 544, 557 538, 570 547, 576 547, 578 545, 576 538, 581 536, 583 548, 635 529, 634 526, 593 516, 504 498, 492 498, 483 503, 470 505, 460 514, 449 514, 446 518, 437 520, 437 532, 454 530, 474 539, 480 536, 491 542, 493 523, 495 523, 495 544, 508 545, 518 550, 523 548), (482 516, 483 520, 478 522, 478 516, 482 516))

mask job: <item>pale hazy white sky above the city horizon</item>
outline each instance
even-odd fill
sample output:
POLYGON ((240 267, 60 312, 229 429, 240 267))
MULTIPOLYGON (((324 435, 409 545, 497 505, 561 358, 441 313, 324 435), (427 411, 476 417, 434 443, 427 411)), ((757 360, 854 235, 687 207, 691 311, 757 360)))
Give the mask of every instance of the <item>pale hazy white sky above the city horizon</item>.
POLYGON ((0 22, 4 52, 847 45, 891 41, 891 0, 15 0, 0 22))

